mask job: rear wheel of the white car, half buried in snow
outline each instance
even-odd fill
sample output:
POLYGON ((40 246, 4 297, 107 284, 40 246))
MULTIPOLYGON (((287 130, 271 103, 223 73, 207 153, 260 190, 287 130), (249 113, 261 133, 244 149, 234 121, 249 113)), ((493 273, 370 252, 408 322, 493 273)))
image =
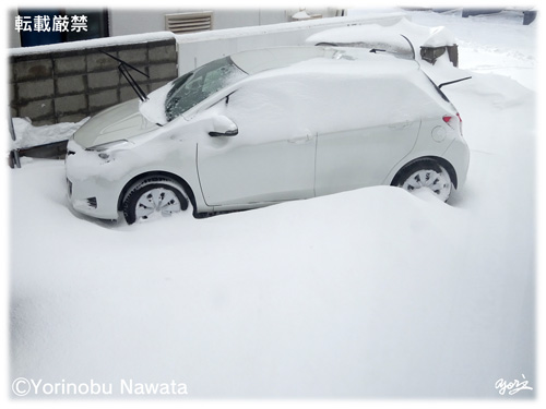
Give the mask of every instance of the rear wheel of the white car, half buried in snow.
POLYGON ((449 172, 434 160, 419 160, 410 165, 394 184, 408 192, 429 189, 442 202, 448 201, 453 188, 449 172))

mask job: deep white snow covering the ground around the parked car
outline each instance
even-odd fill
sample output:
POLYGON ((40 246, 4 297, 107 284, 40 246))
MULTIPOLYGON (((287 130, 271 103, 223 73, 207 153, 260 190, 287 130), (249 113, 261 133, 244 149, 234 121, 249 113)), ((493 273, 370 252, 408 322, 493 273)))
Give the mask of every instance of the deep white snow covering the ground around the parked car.
POLYGON ((9 175, 10 380, 183 383, 183 399, 534 396, 536 24, 412 17, 452 29, 473 75, 443 88, 472 149, 450 205, 378 187, 115 225, 69 209, 62 161, 24 160, 9 175), (522 375, 534 390, 499 394, 522 375))

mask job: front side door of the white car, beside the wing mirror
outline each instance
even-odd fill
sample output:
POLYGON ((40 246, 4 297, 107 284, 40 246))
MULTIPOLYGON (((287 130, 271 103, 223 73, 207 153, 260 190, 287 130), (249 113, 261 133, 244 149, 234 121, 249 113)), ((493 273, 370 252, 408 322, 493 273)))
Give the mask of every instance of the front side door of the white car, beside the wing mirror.
POLYGON ((282 83, 241 86, 210 108, 237 134, 198 142, 198 171, 209 206, 254 205, 312 197, 316 132, 295 123, 297 101, 282 83))

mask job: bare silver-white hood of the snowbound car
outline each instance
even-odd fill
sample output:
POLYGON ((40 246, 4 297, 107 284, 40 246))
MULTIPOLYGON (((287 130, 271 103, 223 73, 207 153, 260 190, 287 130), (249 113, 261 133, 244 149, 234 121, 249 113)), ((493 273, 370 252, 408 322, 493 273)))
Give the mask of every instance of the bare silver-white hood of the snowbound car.
POLYGON ((93 118, 74 133, 74 141, 88 148, 108 142, 129 140, 157 129, 139 111, 139 99, 108 108, 93 118))

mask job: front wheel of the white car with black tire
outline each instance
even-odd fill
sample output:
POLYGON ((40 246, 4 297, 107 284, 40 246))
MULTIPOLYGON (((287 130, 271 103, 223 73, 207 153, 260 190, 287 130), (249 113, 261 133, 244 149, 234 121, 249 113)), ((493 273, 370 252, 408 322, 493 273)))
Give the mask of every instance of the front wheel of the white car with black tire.
POLYGON ((146 178, 134 184, 122 203, 123 216, 129 225, 151 215, 168 216, 185 212, 189 199, 183 188, 167 178, 146 178))

